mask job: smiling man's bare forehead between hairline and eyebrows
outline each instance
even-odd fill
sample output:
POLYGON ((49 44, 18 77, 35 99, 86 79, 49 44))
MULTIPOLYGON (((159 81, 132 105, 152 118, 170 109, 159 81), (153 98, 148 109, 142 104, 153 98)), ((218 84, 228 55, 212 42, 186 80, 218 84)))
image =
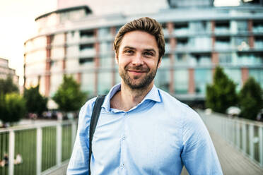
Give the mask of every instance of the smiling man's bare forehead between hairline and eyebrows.
POLYGON ((122 38, 119 49, 124 47, 134 47, 136 49, 155 49, 158 51, 158 44, 156 42, 156 37, 149 34, 148 32, 135 30, 132 32, 127 32, 122 38))

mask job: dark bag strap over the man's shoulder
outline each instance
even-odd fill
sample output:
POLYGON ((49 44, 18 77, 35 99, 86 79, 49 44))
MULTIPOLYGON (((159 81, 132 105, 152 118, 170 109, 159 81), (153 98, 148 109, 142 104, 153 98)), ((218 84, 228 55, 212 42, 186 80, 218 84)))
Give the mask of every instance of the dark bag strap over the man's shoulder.
MULTIPOLYGON (((100 111, 101 111, 101 106, 103 105, 105 99, 105 95, 98 95, 97 99, 95 101, 91 119, 90 119, 90 137, 89 137, 89 143, 90 143, 90 149, 89 149, 89 165, 90 165, 90 159, 91 159, 91 154, 92 154, 92 139, 93 139, 93 134, 95 133, 95 128, 98 123, 98 118, 100 117, 100 111)), ((88 170, 88 174, 90 174, 90 168, 88 170)))

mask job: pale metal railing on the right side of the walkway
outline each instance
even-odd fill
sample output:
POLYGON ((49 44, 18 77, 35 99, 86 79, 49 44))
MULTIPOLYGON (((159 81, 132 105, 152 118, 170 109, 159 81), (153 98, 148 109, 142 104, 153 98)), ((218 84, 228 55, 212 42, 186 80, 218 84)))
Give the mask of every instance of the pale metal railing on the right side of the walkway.
POLYGON ((228 141, 246 157, 263 168, 263 123, 231 118, 218 113, 198 111, 209 130, 228 141))

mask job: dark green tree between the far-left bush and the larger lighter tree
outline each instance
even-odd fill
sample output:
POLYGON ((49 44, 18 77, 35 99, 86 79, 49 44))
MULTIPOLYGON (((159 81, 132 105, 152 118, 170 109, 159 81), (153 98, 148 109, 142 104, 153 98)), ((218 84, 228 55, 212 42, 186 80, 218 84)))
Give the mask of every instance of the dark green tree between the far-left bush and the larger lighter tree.
POLYGON ((28 112, 36 113, 38 116, 47 110, 47 97, 43 97, 39 92, 39 85, 25 89, 25 106, 28 112))

